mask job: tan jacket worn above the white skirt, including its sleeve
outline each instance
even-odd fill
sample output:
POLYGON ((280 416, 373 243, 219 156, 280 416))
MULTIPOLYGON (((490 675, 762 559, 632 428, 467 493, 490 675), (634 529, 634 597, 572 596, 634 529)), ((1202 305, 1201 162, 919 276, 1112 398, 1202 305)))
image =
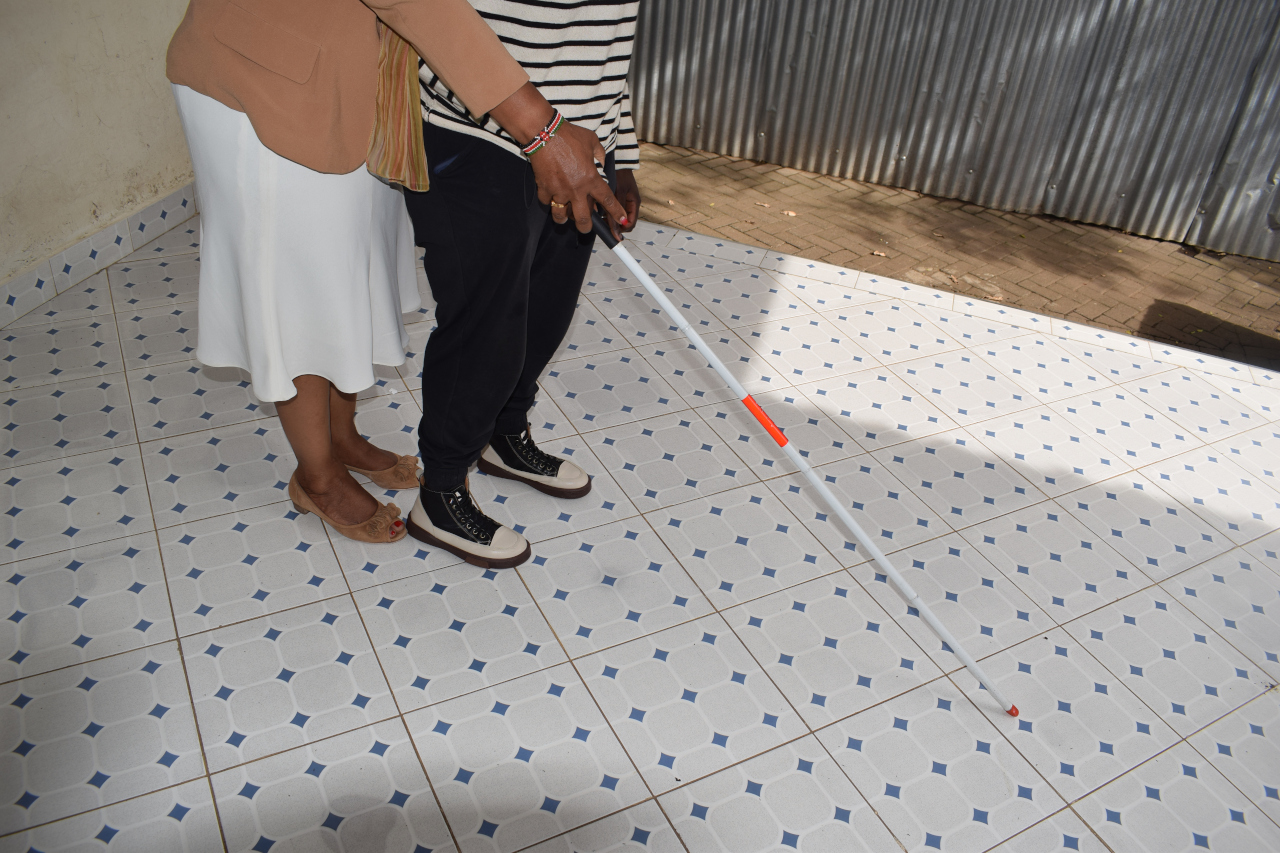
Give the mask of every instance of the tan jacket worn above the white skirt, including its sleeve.
POLYGON ((466 0, 191 0, 166 74, 248 114, 280 156, 346 174, 374 127, 378 18, 474 115, 529 79, 466 0))

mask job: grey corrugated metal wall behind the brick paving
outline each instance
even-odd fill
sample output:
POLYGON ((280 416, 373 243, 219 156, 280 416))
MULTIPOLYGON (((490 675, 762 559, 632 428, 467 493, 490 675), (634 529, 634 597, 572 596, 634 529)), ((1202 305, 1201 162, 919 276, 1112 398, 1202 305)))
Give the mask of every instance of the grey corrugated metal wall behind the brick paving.
POLYGON ((641 138, 1280 260, 1276 0, 644 0, 641 138))

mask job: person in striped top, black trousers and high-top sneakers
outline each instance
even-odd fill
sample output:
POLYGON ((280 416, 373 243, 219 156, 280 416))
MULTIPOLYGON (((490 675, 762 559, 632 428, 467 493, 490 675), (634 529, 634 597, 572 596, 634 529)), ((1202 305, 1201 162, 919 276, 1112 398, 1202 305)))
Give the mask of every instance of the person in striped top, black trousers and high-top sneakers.
POLYGON ((639 145, 627 72, 639 3, 471 5, 557 109, 547 108, 539 133, 513 134, 492 115, 476 118, 447 78, 421 67, 431 191, 406 192, 404 201, 426 248, 438 328, 424 353, 422 488, 408 530, 498 569, 527 560, 530 547, 476 506, 466 482, 472 464, 554 497, 591 488, 582 469, 541 451, 529 430, 538 378, 568 330, 595 241, 591 210, 538 172, 566 145, 570 122, 591 131, 625 215, 602 206, 623 231, 635 227, 639 145))

